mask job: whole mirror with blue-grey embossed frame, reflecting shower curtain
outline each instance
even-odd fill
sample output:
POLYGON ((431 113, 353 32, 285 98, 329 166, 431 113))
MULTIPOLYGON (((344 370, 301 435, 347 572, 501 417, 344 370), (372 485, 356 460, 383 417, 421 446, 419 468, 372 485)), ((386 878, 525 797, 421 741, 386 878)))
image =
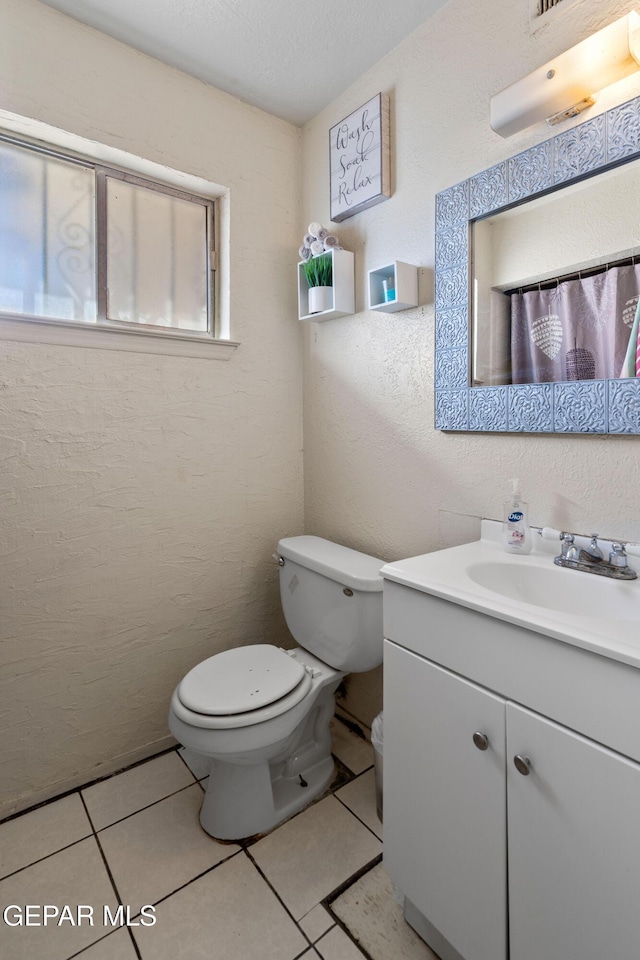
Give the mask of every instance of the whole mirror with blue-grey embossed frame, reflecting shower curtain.
POLYGON ((639 212, 640 98, 437 195, 436 429, 640 433, 639 212))

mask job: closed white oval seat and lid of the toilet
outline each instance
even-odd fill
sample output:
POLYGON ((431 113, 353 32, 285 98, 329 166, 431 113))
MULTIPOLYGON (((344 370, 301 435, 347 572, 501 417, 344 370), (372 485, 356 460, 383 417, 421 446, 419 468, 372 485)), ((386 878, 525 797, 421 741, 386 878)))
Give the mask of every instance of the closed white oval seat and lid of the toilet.
POLYGON ((175 692, 174 708, 186 723, 243 727, 290 710, 311 682, 293 651, 288 655, 270 644, 236 647, 190 670, 175 692))

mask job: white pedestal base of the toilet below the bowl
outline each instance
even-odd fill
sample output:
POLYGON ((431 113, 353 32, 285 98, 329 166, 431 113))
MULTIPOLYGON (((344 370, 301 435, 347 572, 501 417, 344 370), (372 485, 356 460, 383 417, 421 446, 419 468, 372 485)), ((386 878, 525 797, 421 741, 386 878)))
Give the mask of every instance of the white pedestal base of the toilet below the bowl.
POLYGON ((329 787, 335 769, 329 732, 335 686, 337 681, 320 692, 302 729, 271 760, 213 760, 200 811, 210 836, 230 842, 268 833, 329 787))

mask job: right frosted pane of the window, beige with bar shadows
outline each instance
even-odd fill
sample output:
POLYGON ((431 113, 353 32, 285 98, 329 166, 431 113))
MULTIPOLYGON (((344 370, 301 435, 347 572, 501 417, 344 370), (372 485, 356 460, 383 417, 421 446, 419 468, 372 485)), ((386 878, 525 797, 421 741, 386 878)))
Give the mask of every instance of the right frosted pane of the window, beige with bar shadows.
POLYGON ((107 178, 107 319, 208 330, 207 207, 107 178))

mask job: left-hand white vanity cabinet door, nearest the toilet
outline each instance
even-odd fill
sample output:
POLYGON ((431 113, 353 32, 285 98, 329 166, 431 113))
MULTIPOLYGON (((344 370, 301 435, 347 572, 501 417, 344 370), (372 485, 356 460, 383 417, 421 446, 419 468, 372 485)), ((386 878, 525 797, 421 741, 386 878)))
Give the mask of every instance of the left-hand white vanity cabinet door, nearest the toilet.
POLYGON ((384 864, 465 960, 506 955, 504 704, 385 641, 384 864))

